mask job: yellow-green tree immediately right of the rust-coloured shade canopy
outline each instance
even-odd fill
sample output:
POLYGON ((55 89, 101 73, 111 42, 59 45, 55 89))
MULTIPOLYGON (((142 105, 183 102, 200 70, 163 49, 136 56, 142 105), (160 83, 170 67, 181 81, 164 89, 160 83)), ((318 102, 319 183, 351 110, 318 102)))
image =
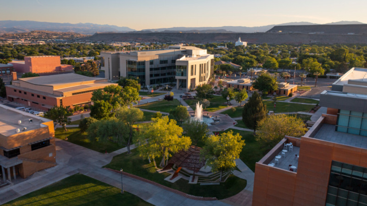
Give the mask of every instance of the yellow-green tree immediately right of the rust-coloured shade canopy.
POLYGON ((221 181, 223 172, 233 171, 236 167, 236 159, 245 146, 245 140, 241 139, 240 134, 233 135, 232 130, 217 136, 211 135, 201 150, 207 160, 206 165, 211 167, 212 172, 221 173, 221 181))

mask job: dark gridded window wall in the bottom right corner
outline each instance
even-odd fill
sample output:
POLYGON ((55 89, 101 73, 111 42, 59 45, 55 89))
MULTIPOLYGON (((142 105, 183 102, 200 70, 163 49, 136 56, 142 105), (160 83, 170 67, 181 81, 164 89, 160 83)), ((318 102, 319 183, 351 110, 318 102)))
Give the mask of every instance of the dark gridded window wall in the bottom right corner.
POLYGON ((333 161, 326 206, 367 206, 367 168, 333 161))

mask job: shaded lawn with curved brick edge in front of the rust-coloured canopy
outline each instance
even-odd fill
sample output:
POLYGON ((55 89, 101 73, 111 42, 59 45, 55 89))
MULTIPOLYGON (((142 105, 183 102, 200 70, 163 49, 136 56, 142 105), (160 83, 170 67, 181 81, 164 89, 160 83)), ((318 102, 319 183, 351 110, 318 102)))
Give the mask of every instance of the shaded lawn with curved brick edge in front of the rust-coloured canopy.
MULTIPOLYGON (((148 160, 139 157, 136 149, 131 151, 131 154, 123 153, 113 157, 112 161, 105 167, 115 170, 122 168, 124 172, 135 174, 139 177, 195 196, 224 199, 239 193, 246 187, 246 180, 233 175, 225 183, 219 185, 200 186, 200 184, 188 184, 188 180, 184 179, 170 183, 164 180, 169 175, 168 173, 158 173, 153 162, 149 163, 148 160)), ((160 158, 157 158, 156 161, 160 162, 160 158)))

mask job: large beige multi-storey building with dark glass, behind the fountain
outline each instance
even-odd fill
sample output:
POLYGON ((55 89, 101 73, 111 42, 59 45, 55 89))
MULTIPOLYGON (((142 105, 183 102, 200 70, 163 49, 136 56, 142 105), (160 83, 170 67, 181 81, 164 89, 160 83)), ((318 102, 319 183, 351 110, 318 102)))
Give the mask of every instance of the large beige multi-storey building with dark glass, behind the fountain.
POLYGON ((109 80, 138 77, 141 85, 176 82, 177 88, 195 88, 214 72, 214 56, 206 49, 170 46, 168 49, 101 52, 101 69, 109 80))

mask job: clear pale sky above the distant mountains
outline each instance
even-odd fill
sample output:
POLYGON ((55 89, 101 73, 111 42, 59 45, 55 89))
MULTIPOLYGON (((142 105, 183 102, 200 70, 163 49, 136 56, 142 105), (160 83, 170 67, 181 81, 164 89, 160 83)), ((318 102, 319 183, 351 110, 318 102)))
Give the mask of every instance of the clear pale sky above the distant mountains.
POLYGON ((131 29, 367 23, 367 0, 0 0, 0 20, 97 23, 131 29))

